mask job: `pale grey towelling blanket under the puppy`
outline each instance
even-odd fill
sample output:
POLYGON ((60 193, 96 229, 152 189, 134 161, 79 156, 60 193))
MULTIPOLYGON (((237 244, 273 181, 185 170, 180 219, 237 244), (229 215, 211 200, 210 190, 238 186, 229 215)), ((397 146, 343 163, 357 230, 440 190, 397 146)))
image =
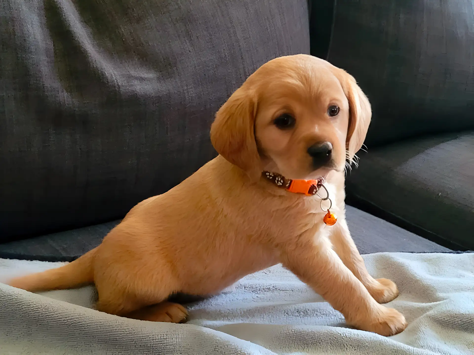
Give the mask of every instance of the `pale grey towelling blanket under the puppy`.
MULTIPOLYGON (((409 325, 396 336, 346 328, 341 313, 289 271, 273 266, 189 304, 187 324, 125 319, 85 308, 96 297, 92 287, 37 295, 0 284, 0 352, 473 354, 474 254, 364 258, 372 275, 388 277, 400 289, 387 305, 401 311, 409 325)), ((0 275, 5 279, 54 266, 0 259, 0 275)))

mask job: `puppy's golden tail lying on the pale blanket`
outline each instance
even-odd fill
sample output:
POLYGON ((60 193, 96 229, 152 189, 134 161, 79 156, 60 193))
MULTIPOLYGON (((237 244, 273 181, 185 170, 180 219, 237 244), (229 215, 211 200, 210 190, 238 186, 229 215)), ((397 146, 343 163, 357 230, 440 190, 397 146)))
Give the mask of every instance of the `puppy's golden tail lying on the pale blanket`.
POLYGON ((94 255, 97 248, 64 266, 27 276, 16 277, 10 286, 30 292, 64 290, 94 282, 94 255))

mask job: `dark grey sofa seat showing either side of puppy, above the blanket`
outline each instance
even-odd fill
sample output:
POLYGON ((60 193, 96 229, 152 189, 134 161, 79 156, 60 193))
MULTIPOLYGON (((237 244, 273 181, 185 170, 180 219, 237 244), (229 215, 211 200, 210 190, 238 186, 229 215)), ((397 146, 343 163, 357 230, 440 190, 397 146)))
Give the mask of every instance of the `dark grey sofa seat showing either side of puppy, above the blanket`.
MULTIPOLYGON (((362 254, 383 251, 449 251, 432 241, 405 231, 371 214, 347 206, 346 219, 352 238, 362 254)), ((119 221, 103 223, 0 244, 0 257, 43 261, 73 261, 97 247, 119 221)))

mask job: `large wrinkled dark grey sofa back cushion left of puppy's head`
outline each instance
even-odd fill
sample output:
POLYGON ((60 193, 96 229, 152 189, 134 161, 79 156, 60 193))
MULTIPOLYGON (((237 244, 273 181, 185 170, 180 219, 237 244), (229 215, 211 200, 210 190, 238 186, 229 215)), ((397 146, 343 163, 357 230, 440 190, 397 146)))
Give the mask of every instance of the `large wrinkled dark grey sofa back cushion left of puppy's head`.
POLYGON ((121 218, 214 157, 264 62, 309 53, 307 1, 0 3, 0 241, 121 218))

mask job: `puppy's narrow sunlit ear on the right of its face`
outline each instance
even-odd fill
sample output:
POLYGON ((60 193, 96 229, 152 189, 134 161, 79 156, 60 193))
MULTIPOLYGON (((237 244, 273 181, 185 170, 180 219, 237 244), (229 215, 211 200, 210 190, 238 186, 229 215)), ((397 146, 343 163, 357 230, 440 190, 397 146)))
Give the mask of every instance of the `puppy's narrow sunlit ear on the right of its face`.
POLYGON ((357 85, 356 80, 346 72, 345 91, 349 101, 349 126, 347 128, 346 151, 347 159, 352 164, 354 155, 362 148, 365 135, 369 128, 372 110, 369 99, 357 85))

